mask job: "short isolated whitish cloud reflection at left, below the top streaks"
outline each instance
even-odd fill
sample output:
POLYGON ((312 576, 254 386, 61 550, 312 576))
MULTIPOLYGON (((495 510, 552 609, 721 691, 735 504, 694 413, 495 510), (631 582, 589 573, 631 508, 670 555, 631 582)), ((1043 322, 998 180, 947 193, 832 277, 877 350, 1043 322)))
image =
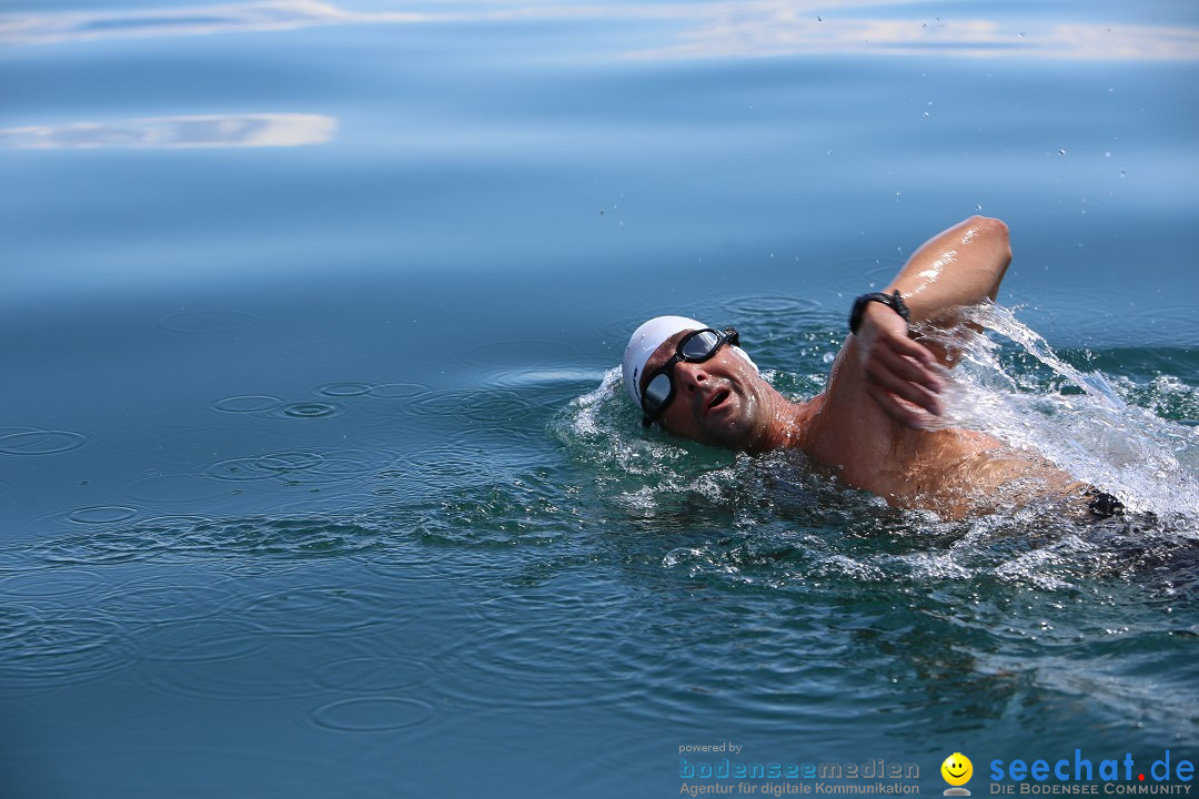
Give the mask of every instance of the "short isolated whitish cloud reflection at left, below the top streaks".
POLYGON ((295 147, 325 144, 337 120, 318 114, 163 116, 121 122, 74 122, 0 129, 0 147, 60 150, 91 147, 295 147))

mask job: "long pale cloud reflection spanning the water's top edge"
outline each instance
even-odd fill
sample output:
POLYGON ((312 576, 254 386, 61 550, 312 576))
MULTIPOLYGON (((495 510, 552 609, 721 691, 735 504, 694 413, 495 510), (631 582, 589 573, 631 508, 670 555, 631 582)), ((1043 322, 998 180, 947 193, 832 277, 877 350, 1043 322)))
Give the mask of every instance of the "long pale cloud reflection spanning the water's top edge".
MULTIPOLYGON (((675 43, 627 53, 633 59, 766 57, 811 54, 946 55, 1076 60, 1199 59, 1199 29, 992 19, 896 19, 898 0, 536 5, 507 2, 446 11, 351 11, 319 0, 278 0, 185 8, 7 14, 0 42, 54 44, 115 37, 201 36, 343 24, 676 19, 675 43), (884 10, 887 10, 884 13, 884 10), (880 14, 869 18, 866 14, 880 14), (819 14, 819 16, 818 16, 819 14), (821 19, 820 16, 824 18, 821 19)), ((905 12, 899 12, 905 13, 905 12)))

